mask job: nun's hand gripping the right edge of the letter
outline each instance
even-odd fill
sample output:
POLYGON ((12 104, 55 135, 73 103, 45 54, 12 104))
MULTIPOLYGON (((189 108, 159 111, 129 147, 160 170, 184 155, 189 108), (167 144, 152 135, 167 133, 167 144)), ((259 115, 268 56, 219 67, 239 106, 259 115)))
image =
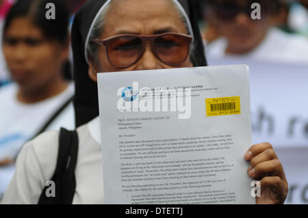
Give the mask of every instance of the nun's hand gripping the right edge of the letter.
POLYGON ((244 156, 251 165, 247 173, 261 182, 257 204, 283 204, 287 197, 287 180, 283 166, 269 143, 251 146, 244 156))

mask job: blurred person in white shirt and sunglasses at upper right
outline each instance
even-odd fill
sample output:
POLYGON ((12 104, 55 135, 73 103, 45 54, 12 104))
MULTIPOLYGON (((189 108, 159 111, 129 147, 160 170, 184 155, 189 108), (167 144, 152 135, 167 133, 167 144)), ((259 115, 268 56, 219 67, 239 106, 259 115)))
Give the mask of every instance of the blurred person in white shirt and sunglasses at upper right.
POLYGON ((308 40, 272 27, 279 1, 208 0, 220 38, 206 46, 211 59, 246 58, 266 62, 308 62, 308 40), (253 3, 261 5, 261 19, 253 19, 253 3))

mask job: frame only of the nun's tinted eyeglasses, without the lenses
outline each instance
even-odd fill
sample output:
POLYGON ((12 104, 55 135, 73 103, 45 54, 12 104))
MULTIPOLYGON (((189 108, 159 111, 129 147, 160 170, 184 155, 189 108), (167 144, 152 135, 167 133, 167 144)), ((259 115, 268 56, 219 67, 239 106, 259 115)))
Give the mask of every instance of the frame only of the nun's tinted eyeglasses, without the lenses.
POLYGON ((121 35, 117 35, 117 36, 112 36, 110 38, 106 38, 104 40, 101 39, 94 39, 92 40, 93 42, 96 42, 97 44, 103 45, 106 47, 106 55, 107 55, 107 59, 110 62, 110 64, 112 64, 113 66, 115 66, 116 68, 128 68, 130 66, 133 66, 134 64, 136 64, 137 62, 139 62, 139 60, 141 59, 141 57, 144 54, 144 51, 146 50, 146 42, 151 42, 151 51, 152 53, 155 55, 155 57, 157 59, 159 59, 160 62, 167 64, 168 66, 180 66, 181 64, 183 64, 183 62, 185 62, 185 60, 187 59, 189 53, 190 53, 190 43, 192 42, 192 36, 183 34, 183 33, 172 33, 172 32, 168 32, 168 33, 160 33, 160 34, 155 34, 155 35, 138 35, 138 34, 121 34, 121 35), (182 38, 185 39, 185 41, 188 44, 188 52, 185 56, 185 59, 183 59, 183 61, 176 63, 176 64, 168 64, 166 62, 164 62, 163 59, 161 59, 159 57, 159 55, 157 55, 155 49, 154 49, 154 42, 157 38, 162 37, 162 36, 180 36, 182 38), (128 66, 116 66, 114 63, 112 63, 110 61, 110 57, 108 54, 108 46, 110 44, 110 42, 112 42, 112 40, 116 39, 116 38, 121 38, 121 37, 136 37, 139 38, 142 41, 142 52, 140 52, 140 56, 136 59, 136 61, 134 61, 132 64, 129 64, 128 66))

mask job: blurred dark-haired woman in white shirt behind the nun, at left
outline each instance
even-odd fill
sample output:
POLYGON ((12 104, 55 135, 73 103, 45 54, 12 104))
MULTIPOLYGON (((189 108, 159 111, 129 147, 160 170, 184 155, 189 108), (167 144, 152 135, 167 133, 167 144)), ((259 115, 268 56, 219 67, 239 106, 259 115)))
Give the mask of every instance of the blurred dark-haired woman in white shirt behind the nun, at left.
POLYGON ((61 0, 21 0, 5 19, 3 54, 14 83, 0 89, 0 193, 26 141, 60 126, 75 128, 68 18, 61 0), (55 20, 45 16, 49 2, 55 20))

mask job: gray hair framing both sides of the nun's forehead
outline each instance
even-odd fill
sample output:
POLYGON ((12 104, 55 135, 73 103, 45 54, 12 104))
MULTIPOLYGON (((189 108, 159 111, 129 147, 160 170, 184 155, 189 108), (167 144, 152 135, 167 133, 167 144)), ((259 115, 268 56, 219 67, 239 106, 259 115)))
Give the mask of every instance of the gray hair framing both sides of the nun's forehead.
MULTIPOLYGON (((185 12, 183 12, 182 8, 179 7, 179 4, 176 3, 177 0, 170 0, 170 2, 175 5, 175 8, 177 9, 177 12, 179 13, 179 16, 181 18, 181 21, 185 25, 185 29, 187 33, 194 38, 194 33, 192 32, 192 28, 190 23, 188 23, 188 19, 185 17, 185 12)), ((86 46, 87 51, 87 58, 89 61, 94 62, 94 64, 97 64, 97 56, 98 56, 98 50, 99 45, 95 42, 93 42, 94 39, 100 38, 101 34, 103 33, 103 28, 105 25, 105 17, 107 12, 110 10, 110 6, 112 5, 113 1, 110 1, 109 4, 105 5, 105 8, 102 10, 101 14, 97 17, 97 21, 95 21, 92 31, 90 33, 90 37, 88 40, 88 45, 86 46)), ((194 54, 195 50, 194 42, 190 44, 190 59, 192 59, 192 55, 194 54)))

